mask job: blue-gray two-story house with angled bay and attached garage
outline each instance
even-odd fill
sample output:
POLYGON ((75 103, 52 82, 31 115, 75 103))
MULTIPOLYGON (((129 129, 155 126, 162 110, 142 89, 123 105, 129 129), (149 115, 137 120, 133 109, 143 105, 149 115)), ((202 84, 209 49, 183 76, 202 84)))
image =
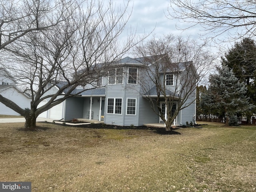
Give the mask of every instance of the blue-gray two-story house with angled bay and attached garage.
MULTIPOLYGON (((142 126, 144 124, 163 123, 145 98, 148 95, 155 97, 156 88, 146 75, 143 58, 126 57, 118 63, 118 67, 112 69, 115 75, 98 78, 94 86, 86 85, 85 87, 76 88, 77 92, 81 89, 93 89, 85 90, 79 96, 66 99, 58 106, 40 114, 39 117, 55 120, 84 118, 100 120, 105 124, 118 126, 142 126), (148 84, 149 90, 147 92, 139 83, 141 78, 146 80, 148 84)), ((192 71, 193 73, 196 75, 195 71, 192 71)), ((174 86, 173 82, 175 82, 173 71, 163 78, 167 78, 166 83, 168 86, 166 87, 170 88, 167 91, 171 94, 172 86, 174 86)), ((56 86, 51 92, 56 92, 57 89, 56 86)), ((192 101, 192 104, 179 112, 175 124, 186 124, 186 122, 193 121, 196 113, 195 98, 196 92, 194 91, 191 98, 188 99, 188 102, 192 101)), ((48 100, 44 101, 44 103, 46 102, 48 100)), ((164 100, 160 104, 164 106, 164 100)))

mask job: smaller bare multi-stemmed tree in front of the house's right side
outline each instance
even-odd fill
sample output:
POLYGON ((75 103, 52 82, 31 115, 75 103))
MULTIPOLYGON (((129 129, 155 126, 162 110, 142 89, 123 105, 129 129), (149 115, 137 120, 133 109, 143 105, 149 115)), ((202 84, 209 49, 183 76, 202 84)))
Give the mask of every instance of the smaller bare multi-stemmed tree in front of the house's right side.
POLYGON ((136 46, 135 52, 144 58, 146 74, 139 80, 143 96, 166 124, 166 130, 171 130, 182 109, 191 105, 195 109, 196 86, 212 69, 216 57, 206 44, 173 35, 153 38, 136 46))

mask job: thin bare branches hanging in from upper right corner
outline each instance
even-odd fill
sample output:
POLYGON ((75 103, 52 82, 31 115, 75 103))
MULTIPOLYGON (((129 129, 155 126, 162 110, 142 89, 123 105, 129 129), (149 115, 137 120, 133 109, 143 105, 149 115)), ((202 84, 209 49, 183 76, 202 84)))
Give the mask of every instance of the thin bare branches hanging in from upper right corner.
POLYGON ((251 0, 170 0, 168 12, 179 22, 192 24, 186 25, 188 28, 201 25, 211 37, 227 32, 232 38, 240 38, 256 35, 255 6, 251 0))

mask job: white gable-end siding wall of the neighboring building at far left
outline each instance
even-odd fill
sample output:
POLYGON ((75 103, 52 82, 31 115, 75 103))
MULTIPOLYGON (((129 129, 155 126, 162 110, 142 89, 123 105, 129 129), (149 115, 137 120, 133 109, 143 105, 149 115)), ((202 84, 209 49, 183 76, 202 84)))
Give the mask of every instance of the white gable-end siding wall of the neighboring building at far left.
MULTIPOLYGON (((28 98, 24 94, 19 93, 14 87, 10 87, 10 88, 0 92, 0 94, 3 97, 5 97, 7 99, 10 99, 13 102, 15 102, 22 109, 30 108, 31 98, 28 98)), ((11 108, 8 108, 7 106, 2 104, 1 102, 0 102, 0 114, 20 116, 20 114, 18 114, 17 112, 12 110, 11 108)))

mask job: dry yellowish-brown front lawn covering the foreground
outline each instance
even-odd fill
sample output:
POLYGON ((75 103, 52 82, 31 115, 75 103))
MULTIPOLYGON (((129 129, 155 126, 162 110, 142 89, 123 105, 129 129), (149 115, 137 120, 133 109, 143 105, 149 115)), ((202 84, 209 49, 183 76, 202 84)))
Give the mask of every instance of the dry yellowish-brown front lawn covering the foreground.
POLYGON ((236 192, 256 188, 256 127, 152 130, 0 124, 0 180, 45 192, 236 192))

